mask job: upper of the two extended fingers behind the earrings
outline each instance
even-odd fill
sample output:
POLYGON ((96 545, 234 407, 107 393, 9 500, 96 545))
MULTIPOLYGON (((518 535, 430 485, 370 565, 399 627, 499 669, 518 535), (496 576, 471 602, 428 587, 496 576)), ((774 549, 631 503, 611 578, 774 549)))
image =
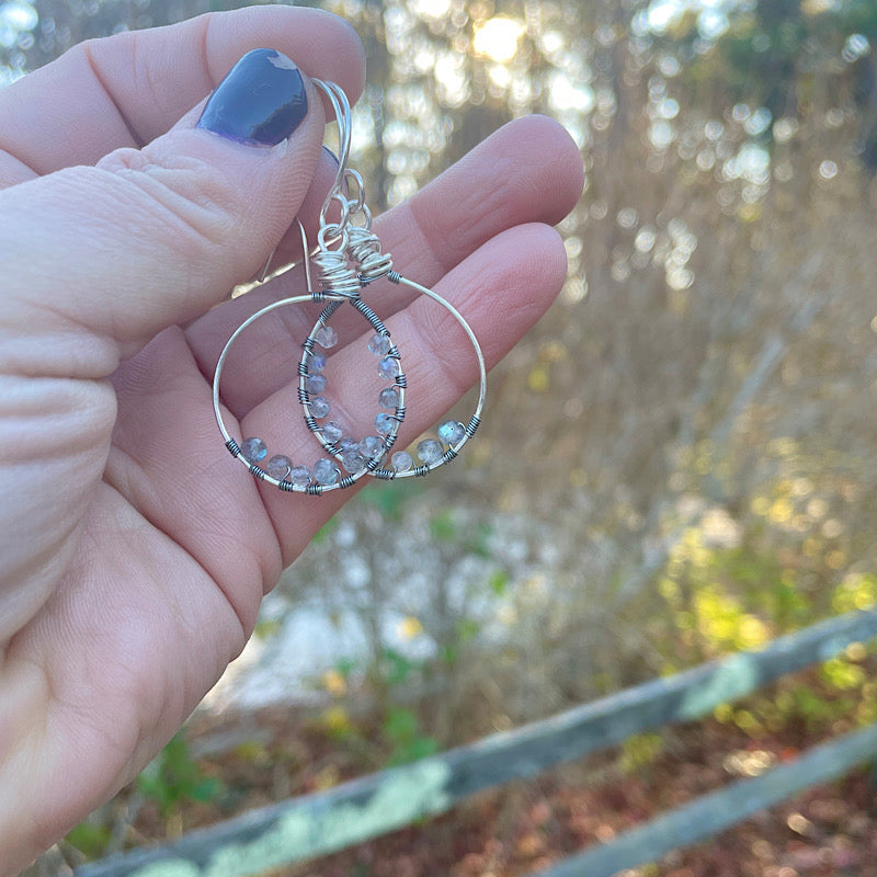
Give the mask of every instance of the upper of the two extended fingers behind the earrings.
MULTIPOLYGON (((379 217, 375 228, 396 269, 429 286, 504 229, 559 221, 581 189, 581 156, 569 135, 549 118, 531 116, 500 128, 410 202, 379 217)), ((301 292, 304 280, 293 273, 195 321, 187 338, 204 375, 212 377, 226 341, 250 314, 301 292)), ((414 296, 385 283, 369 287, 365 298, 387 318, 414 296)), ((223 381, 223 398, 236 415, 285 385, 318 312, 282 308, 241 337, 247 367, 229 368, 223 381)), ((343 308, 333 326, 342 335, 364 330, 352 308, 343 308)))

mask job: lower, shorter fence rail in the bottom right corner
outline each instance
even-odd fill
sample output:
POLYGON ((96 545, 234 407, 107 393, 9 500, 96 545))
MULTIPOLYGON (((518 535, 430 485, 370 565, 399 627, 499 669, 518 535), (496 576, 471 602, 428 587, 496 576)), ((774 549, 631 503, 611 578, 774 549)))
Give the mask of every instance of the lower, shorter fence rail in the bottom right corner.
POLYGON ((877 725, 807 750, 795 761, 754 779, 741 779, 702 795, 619 835, 605 846, 565 858, 532 877, 611 877, 625 868, 654 862, 679 846, 713 838, 759 810, 810 786, 836 779, 877 756, 877 725))

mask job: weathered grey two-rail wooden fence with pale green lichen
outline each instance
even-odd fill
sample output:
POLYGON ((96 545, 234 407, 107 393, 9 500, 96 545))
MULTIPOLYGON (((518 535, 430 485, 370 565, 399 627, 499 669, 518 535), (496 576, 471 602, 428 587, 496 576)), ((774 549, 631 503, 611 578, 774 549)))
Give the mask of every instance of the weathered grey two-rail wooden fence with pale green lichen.
MULTIPOLYGON (((86 865, 76 870, 76 877, 249 877, 344 850, 445 812, 480 789, 534 776, 651 728, 706 716, 719 704, 751 694, 786 673, 831 658, 851 642, 875 636, 877 612, 832 618, 781 637, 762 651, 711 661, 441 755, 252 810, 193 831, 174 843, 86 865)), ((875 728, 815 748, 794 765, 699 798, 606 847, 572 857, 556 866, 550 877, 597 877, 613 873, 607 868, 629 867, 639 855, 645 858, 637 862, 653 859, 674 846, 709 836, 795 790, 838 776, 870 755, 877 755, 875 728), (748 804, 742 806, 742 800, 748 804), (713 822, 701 818, 701 807, 705 816, 715 813, 713 822), (705 830, 714 823, 715 828, 695 836, 693 829, 683 830, 686 821, 705 830), (627 852, 613 857, 607 852, 610 846, 620 848, 622 841, 627 852), (650 852, 646 854, 645 850, 650 852), (616 865, 622 861, 628 864, 616 865)))

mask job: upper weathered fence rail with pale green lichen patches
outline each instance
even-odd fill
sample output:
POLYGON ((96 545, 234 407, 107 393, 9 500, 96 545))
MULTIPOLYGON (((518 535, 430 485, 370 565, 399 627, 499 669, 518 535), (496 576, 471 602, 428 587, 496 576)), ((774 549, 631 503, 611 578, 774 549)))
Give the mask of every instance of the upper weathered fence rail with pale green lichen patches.
POLYGON ((166 846, 86 865, 76 877, 247 877, 344 850, 445 812, 479 789, 533 776, 649 728, 699 718, 875 636, 877 612, 832 618, 763 651, 740 652, 415 764, 252 810, 166 846))

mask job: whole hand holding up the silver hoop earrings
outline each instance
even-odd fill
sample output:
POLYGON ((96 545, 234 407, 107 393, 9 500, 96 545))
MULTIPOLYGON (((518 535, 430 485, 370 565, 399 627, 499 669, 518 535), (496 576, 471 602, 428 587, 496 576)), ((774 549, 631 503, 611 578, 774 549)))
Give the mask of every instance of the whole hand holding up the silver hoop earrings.
MULTIPOLYGON (((350 496, 258 485, 213 420, 225 341, 304 287, 285 275, 219 303, 278 241, 294 249, 294 217, 312 223, 334 173, 307 76, 307 112, 286 113, 294 130, 277 146, 284 132, 249 128, 259 146, 240 127, 196 127, 209 92, 261 46, 351 102, 363 87, 345 24, 266 7, 83 44, 0 91, 0 875, 155 755, 350 496)), ((581 183, 563 130, 521 119, 375 227, 399 270, 466 316, 492 365, 560 288, 549 224, 581 183)), ((429 300, 394 287, 380 301, 410 380, 406 442, 474 383, 475 357, 429 300)), ((286 435, 291 456, 314 443, 284 390, 307 311, 242 335, 223 386, 238 434, 286 435)), ((342 339, 348 322, 367 329, 355 318, 339 314, 342 339)), ((332 354, 332 396, 355 414, 362 345, 332 354)))

